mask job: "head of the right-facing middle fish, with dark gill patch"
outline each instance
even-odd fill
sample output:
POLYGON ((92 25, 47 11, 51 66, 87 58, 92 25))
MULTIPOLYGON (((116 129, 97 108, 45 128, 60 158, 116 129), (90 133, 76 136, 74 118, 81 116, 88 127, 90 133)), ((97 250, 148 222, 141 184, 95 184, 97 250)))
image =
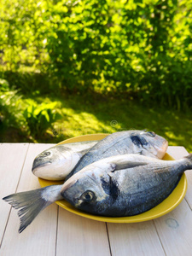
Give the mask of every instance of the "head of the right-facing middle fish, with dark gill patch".
POLYGON ((155 134, 154 131, 132 132, 131 141, 140 148, 141 154, 158 159, 163 158, 168 147, 166 139, 155 134))

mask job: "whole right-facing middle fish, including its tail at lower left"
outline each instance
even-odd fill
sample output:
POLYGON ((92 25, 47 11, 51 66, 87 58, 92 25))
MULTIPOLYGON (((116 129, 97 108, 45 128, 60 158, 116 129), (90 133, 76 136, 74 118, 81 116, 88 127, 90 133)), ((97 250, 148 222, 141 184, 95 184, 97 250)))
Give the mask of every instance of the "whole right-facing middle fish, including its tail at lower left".
MULTIPOLYGON (((151 131, 119 131, 96 143, 95 146, 84 154, 79 163, 74 167, 75 172, 79 172, 84 166, 118 154, 146 154, 154 159, 162 158, 166 154, 168 143, 165 138, 156 135, 151 131)), ((46 154, 45 154, 46 155, 46 154)), ((56 159, 58 160, 58 159, 56 159)), ((38 166, 38 165, 37 165, 38 166)), ((42 167, 43 168, 43 167, 42 167)), ((44 170, 42 169, 42 173, 44 170)), ((56 172, 56 169, 55 169, 56 172)), ((69 176, 73 175, 73 171, 69 176)), ((53 174, 55 176, 55 174, 53 174)), ((43 177, 43 176, 42 176, 43 177)), ((44 176, 45 177, 45 176, 44 176)), ((62 185, 51 185, 42 189, 34 189, 28 192, 20 192, 8 195, 3 198, 15 209, 19 209, 20 217, 19 232, 26 229, 39 212, 44 210, 55 201, 63 199, 61 196, 62 185)))

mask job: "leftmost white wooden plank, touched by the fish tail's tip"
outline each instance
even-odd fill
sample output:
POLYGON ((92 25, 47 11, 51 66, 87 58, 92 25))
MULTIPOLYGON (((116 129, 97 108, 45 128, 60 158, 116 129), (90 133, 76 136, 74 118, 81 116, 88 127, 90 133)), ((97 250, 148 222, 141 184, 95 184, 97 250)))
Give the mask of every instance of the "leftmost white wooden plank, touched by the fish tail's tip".
POLYGON ((15 193, 27 149, 27 143, 4 143, 0 145, 0 241, 2 241, 10 211, 10 206, 2 198, 15 193))

